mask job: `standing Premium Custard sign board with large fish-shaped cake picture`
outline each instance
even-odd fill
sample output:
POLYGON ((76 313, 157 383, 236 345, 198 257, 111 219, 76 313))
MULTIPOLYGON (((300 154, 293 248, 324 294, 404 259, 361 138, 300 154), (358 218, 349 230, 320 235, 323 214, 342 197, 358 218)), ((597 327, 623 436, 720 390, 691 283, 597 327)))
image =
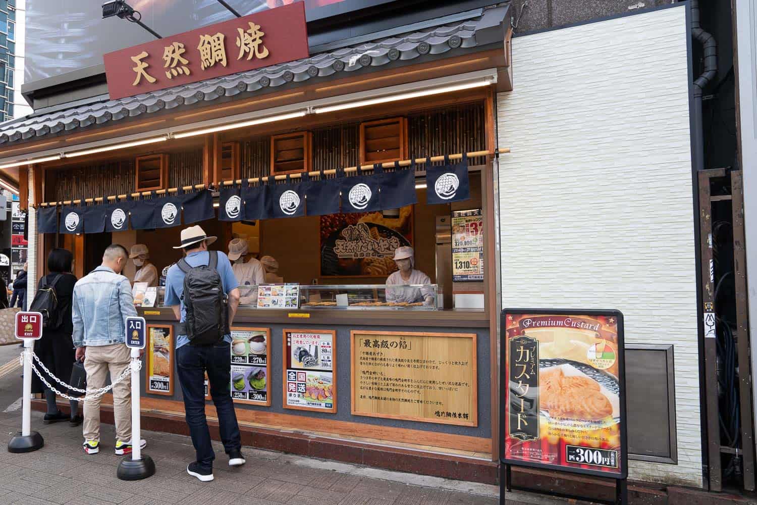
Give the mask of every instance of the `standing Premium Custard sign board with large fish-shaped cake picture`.
POLYGON ((625 479, 623 315, 503 310, 503 463, 625 479))

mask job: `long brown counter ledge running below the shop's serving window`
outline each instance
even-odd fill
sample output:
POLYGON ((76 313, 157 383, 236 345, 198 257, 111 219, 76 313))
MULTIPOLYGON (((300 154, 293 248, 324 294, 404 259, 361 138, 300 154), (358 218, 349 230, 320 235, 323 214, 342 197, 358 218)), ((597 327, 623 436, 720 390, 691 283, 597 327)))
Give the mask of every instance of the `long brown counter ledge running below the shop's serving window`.
MULTIPOLYGON (((137 309, 148 320, 174 320, 170 307, 137 309)), ((446 326, 488 328, 484 310, 266 310, 237 311, 235 323, 344 324, 375 326, 446 326)))

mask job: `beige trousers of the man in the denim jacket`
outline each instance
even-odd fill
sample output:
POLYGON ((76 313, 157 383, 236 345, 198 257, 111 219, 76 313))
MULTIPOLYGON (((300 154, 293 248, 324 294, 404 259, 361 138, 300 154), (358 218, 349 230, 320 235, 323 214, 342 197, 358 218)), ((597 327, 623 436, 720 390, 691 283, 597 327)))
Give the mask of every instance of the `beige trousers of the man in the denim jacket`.
MULTIPOLYGON (((89 346, 84 358, 87 389, 102 388, 107 372, 111 381, 117 379, 129 366, 131 353, 126 344, 89 346)), ((113 416, 116 420, 116 440, 128 442, 132 438, 132 377, 113 386, 113 416)), ((84 401, 84 439, 100 440, 100 397, 84 401)))

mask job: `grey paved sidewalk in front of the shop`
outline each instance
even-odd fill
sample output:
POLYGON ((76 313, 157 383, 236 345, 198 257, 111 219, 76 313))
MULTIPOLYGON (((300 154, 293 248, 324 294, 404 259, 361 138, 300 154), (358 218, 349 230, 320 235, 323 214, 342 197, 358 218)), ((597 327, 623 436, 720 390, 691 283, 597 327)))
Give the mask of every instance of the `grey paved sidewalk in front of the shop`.
MULTIPOLYGON (((5 406, 2 406, 5 408, 5 406)), ((20 410, 0 413, 0 443, 20 429, 20 410)), ((45 426, 32 413, 32 426, 45 447, 29 454, 11 454, 0 447, 0 503, 123 503, 128 505, 192 503, 192 505, 494 505, 496 488, 473 483, 423 480, 418 475, 384 472, 326 460, 244 450, 247 464, 232 469, 223 447, 217 452, 215 480, 201 483, 187 475, 195 451, 188 437, 145 432, 145 454, 157 466, 150 479, 125 482, 116 478, 120 457, 113 454, 114 429, 103 425, 100 454, 84 454, 81 427, 67 423, 45 426), (380 478, 375 478, 375 475, 380 478), (412 485, 409 482, 425 483, 412 485), (474 492, 463 492, 463 491, 474 492)), ((529 500, 552 503, 553 500, 529 500)), ((522 505, 522 501, 510 501, 522 505)))

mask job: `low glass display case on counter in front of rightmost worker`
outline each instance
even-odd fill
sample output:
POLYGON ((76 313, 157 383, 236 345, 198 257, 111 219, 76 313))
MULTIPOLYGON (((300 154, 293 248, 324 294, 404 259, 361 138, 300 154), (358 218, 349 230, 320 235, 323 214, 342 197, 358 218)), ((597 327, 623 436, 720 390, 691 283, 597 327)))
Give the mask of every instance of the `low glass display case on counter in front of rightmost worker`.
POLYGON ((435 310, 438 285, 301 285, 301 309, 435 310))

